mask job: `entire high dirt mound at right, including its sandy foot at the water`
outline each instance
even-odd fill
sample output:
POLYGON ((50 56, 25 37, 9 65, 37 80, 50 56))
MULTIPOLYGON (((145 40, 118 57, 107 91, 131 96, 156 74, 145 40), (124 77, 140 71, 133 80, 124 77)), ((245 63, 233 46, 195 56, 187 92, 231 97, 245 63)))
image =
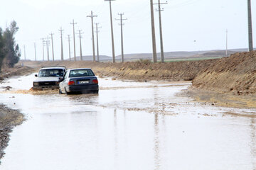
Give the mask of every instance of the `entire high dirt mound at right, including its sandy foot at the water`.
POLYGON ((192 81, 191 96, 220 106, 256 108, 256 52, 215 60, 192 81))

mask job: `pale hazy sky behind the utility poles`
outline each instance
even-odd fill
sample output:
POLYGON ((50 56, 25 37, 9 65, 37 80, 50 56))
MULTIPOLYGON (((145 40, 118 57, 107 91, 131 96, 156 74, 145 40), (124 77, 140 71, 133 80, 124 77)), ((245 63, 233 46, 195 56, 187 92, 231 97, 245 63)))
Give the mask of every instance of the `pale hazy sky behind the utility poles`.
MULTIPOLYGON (((157 2, 157 0, 155 0, 157 2)), ((164 1, 162 1, 164 2, 164 1)), ((256 8, 252 1, 252 20, 256 21, 256 8)), ((155 6, 156 8, 157 6, 155 6)), ((162 26, 164 51, 191 51, 225 49, 225 32, 228 29, 229 48, 247 48, 247 1, 246 0, 169 0, 163 6, 162 26)), ((100 23, 100 55, 112 56, 110 34, 110 8, 104 0, 9 0, 0 7, 0 27, 6 28, 15 20, 20 30, 16 42, 23 45, 26 57, 34 60, 33 42, 36 42, 38 60, 43 59, 41 38, 54 33, 55 58, 60 60, 60 27, 64 29, 64 58, 68 58, 68 34, 73 37, 75 20, 76 33, 82 30, 82 55, 92 55, 91 20, 86 16, 93 11, 95 23, 100 23)), ((124 13, 124 53, 151 52, 151 20, 149 0, 112 1, 113 19, 124 13)), ((155 12, 156 45, 159 52, 159 18, 155 12)), ((115 53, 120 55, 119 21, 113 22, 115 53)), ((256 22, 253 22, 253 30, 256 22)), ((254 31, 254 35, 255 35, 254 31)), ((79 39, 76 54, 79 55, 79 39)), ((254 42, 256 39, 254 38, 254 42)), ((71 43, 73 56, 73 42, 71 43)), ((51 58, 50 50, 50 58, 51 58)))

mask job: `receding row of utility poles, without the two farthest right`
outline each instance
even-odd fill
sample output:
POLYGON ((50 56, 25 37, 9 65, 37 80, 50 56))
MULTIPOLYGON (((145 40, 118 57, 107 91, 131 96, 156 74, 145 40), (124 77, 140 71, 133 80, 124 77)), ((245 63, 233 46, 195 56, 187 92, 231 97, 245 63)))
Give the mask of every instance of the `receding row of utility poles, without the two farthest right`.
MULTIPOLYGON (((105 1, 109 1, 110 3, 110 26, 111 26, 111 38, 112 38, 112 62, 116 62, 115 59, 115 53, 114 53, 114 30, 113 30, 113 21, 112 21, 112 1, 114 0, 105 0, 105 1)), ((154 5, 158 5, 158 8, 156 9, 156 11, 159 12, 159 29, 160 29, 160 43, 161 43, 161 62, 164 62, 164 43, 163 43, 163 35, 162 35, 162 28, 161 28, 161 11, 163 11, 164 9, 161 8, 162 4, 167 4, 167 1, 165 3, 161 3, 160 0, 158 0, 158 3, 154 4, 153 0, 150 0, 150 4, 151 4, 151 27, 152 27, 152 40, 153 40, 153 62, 157 62, 157 56, 156 56, 156 38, 155 38, 155 28, 154 28, 154 5)), ((118 13, 119 15, 119 19, 115 18, 115 20, 120 21, 119 26, 121 26, 121 62, 124 62, 124 41, 123 41, 123 26, 124 20, 127 20, 127 18, 123 18, 124 13, 118 13)), ((94 25, 93 25, 93 18, 97 17, 94 16, 92 11, 91 11, 91 15, 87 16, 90 17, 92 20, 92 57, 93 57, 93 62, 96 61, 95 58, 95 38, 94 38, 94 25)), ((75 21, 73 20, 72 23, 70 23, 71 25, 73 25, 73 44, 74 44, 74 60, 76 61, 76 53, 75 53, 75 25, 77 23, 75 23, 75 21)), ((101 27, 99 27, 99 23, 95 23, 96 25, 96 33, 97 33, 97 62, 100 62, 100 57, 99 57, 99 43, 98 43, 98 33, 99 33, 99 29, 101 27)), ((59 32, 60 32, 60 39, 61 39, 61 61, 64 60, 63 57, 63 29, 60 28, 59 32)), ((80 38, 80 61, 82 61, 82 45, 81 45, 81 38, 82 38, 82 30, 78 30, 78 34, 79 34, 79 38, 80 38)), ((47 36, 47 38, 41 38, 42 42, 43 42, 43 61, 45 61, 45 54, 44 54, 44 47, 46 46, 46 50, 47 50, 47 61, 50 61, 50 57, 49 57, 49 46, 50 46, 50 40, 51 40, 51 46, 52 46, 52 52, 53 52, 53 61, 55 60, 54 57, 54 48, 53 48, 53 33, 50 33, 50 38, 49 35, 47 36)), ((33 44, 34 45, 34 49, 35 49, 35 60, 37 60, 36 58, 36 42, 33 44)), ((71 56, 70 56, 70 35, 68 35, 68 47, 69 47, 69 60, 71 61, 71 56)), ((24 56, 25 56, 25 60, 26 60, 26 46, 24 45, 24 56)))

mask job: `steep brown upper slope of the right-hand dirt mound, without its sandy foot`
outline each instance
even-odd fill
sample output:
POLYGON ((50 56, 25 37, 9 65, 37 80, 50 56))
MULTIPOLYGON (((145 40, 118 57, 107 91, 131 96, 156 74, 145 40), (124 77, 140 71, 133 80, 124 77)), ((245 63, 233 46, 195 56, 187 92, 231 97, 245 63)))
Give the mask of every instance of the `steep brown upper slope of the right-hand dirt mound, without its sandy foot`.
POLYGON ((240 52, 213 63, 193 79, 200 89, 256 94, 256 52, 240 52))

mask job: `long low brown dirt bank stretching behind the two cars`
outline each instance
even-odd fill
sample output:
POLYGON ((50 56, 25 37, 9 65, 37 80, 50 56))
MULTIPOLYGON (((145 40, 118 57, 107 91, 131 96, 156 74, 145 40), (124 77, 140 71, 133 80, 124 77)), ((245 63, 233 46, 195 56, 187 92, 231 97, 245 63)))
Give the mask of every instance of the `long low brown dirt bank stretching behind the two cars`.
POLYGON ((198 72, 210 66, 214 60, 149 63, 142 62, 24 62, 28 67, 42 66, 65 66, 68 68, 89 67, 100 77, 115 77, 118 79, 132 79, 136 81, 146 80, 169 80, 181 81, 192 80, 198 72))

